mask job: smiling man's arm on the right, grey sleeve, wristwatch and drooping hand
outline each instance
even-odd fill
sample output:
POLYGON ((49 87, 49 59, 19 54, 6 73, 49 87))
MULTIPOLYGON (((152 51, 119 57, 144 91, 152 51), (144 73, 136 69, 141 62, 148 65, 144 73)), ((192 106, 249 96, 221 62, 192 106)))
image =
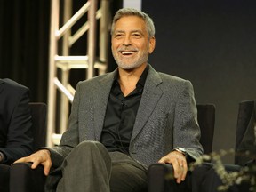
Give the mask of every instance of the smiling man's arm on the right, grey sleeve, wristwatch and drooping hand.
POLYGON ((195 159, 203 154, 203 148, 199 143, 200 128, 197 124, 196 111, 193 86, 189 81, 185 81, 176 101, 173 125, 174 150, 158 161, 161 164, 172 164, 177 183, 186 178, 188 159, 195 159))

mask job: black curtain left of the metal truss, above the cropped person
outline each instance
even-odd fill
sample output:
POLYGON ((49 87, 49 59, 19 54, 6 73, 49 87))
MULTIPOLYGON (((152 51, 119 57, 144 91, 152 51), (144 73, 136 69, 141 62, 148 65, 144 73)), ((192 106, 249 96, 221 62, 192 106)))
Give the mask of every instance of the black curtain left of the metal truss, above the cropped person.
POLYGON ((0 78, 47 100, 50 0, 0 0, 0 78))

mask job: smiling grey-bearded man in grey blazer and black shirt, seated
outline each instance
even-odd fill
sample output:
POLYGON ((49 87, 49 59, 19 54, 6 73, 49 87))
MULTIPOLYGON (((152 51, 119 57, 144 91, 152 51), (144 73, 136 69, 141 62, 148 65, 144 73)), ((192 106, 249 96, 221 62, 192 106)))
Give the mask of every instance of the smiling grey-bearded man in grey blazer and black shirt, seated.
POLYGON ((60 146, 17 161, 43 164, 45 175, 54 168, 46 191, 146 191, 148 165, 157 162, 172 164, 180 183, 186 157, 203 153, 192 84, 148 64, 156 45, 148 14, 119 10, 111 36, 118 68, 77 84, 60 146))

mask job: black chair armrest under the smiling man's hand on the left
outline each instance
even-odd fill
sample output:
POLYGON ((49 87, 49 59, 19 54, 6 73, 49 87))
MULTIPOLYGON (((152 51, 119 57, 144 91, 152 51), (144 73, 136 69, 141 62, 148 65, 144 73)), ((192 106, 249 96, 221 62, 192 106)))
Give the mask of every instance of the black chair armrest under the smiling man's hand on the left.
POLYGON ((30 163, 12 164, 10 168, 10 192, 44 192, 44 167, 31 169, 30 163))

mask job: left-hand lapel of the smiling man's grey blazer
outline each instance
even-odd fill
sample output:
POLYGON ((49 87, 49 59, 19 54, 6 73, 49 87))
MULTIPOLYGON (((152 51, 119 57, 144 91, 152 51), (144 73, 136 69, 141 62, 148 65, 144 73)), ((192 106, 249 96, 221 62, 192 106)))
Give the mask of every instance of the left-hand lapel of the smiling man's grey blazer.
MULTIPOLYGON (((116 70, 115 70, 116 71, 116 70)), ((103 79, 100 80, 100 87, 97 87, 99 90, 95 90, 94 99, 98 98, 98 100, 93 100, 93 108, 94 108, 94 131, 95 131, 95 139, 100 140, 100 134, 104 125, 104 119, 106 114, 106 109, 108 106, 108 96, 111 90, 113 80, 114 80, 114 72, 108 74, 103 79), (95 95, 98 94, 98 95, 95 95), (100 94, 100 95, 99 95, 100 94)))

